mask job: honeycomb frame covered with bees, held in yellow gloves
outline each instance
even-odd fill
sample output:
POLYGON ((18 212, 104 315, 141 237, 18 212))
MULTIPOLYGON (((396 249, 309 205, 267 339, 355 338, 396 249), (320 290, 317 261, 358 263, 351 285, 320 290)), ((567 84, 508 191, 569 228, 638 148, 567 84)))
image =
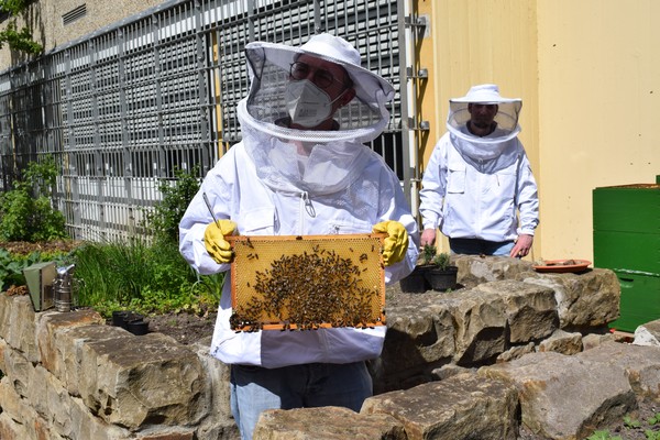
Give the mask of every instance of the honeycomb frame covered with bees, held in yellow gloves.
POLYGON ((232 237, 238 331, 385 324, 385 234, 232 237))

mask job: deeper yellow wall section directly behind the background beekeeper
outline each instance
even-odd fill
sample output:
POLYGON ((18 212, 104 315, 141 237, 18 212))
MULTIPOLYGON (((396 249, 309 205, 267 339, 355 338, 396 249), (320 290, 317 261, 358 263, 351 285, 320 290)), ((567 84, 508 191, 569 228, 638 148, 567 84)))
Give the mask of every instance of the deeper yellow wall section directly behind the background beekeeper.
MULTIPOLYGON (((444 134, 449 99, 464 96, 475 84, 497 84, 505 97, 521 98, 520 141, 535 175, 540 173, 536 2, 529 0, 419 0, 418 13, 428 16, 430 32, 422 42, 422 61, 431 63, 424 118, 431 122, 429 142, 420 157, 428 162, 444 134)), ((424 64, 424 62, 422 62, 424 64)), ((538 179, 540 180, 540 179, 538 179)), ((541 183, 538 182, 539 187, 541 183)), ((542 221, 543 226, 544 222, 542 221)), ((539 255, 541 227, 529 258, 539 255)), ((448 251, 447 239, 442 250, 448 251)))

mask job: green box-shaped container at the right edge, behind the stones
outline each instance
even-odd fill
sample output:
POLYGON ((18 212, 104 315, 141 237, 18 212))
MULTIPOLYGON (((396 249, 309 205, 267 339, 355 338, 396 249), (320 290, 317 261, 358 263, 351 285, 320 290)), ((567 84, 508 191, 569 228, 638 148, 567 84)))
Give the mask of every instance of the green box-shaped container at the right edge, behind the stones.
POLYGON ((620 317, 610 327, 622 331, 660 319, 660 176, 656 180, 593 190, 594 267, 619 279, 620 317))

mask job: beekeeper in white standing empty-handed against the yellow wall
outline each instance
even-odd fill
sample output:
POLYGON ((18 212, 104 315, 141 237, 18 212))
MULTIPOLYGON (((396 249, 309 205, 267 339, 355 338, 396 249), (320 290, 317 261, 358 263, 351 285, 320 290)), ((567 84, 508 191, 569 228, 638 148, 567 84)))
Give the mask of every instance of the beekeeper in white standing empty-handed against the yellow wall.
POLYGON ((450 99, 447 129, 421 180, 421 245, 436 231, 455 254, 526 256, 539 224, 536 180, 518 140, 522 101, 496 85, 450 99))

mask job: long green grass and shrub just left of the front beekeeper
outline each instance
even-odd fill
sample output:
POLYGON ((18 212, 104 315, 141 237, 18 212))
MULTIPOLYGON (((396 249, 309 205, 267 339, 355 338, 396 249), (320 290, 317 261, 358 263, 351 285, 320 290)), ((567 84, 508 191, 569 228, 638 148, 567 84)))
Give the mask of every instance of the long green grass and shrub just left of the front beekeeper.
POLYGON ((174 183, 163 182, 163 201, 147 213, 144 227, 153 243, 89 243, 76 253, 75 277, 80 279, 78 302, 102 315, 131 308, 150 312, 201 314, 220 301, 224 274, 198 275, 178 251, 178 223, 199 189, 191 173, 176 170, 174 183))

